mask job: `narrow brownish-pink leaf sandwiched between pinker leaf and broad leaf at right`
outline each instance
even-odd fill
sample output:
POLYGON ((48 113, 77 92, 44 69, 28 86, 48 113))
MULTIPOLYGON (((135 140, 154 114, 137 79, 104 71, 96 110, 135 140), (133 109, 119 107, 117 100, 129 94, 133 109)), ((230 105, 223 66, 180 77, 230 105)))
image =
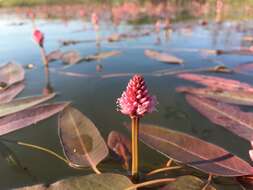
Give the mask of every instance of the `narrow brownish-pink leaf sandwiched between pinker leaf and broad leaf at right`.
POLYGON ((247 91, 224 91, 214 88, 193 88, 193 87, 177 87, 177 92, 197 95, 200 97, 211 98, 221 102, 230 104, 252 106, 253 93, 247 91))

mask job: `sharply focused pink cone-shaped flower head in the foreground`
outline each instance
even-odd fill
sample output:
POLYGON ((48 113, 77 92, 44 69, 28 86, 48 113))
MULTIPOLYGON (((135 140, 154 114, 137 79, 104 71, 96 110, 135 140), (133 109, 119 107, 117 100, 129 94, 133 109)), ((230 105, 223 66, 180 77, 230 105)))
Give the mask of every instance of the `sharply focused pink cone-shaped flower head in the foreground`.
POLYGON ((143 76, 134 75, 129 81, 126 90, 117 99, 119 111, 130 117, 142 117, 146 113, 156 110, 155 96, 148 94, 143 76))

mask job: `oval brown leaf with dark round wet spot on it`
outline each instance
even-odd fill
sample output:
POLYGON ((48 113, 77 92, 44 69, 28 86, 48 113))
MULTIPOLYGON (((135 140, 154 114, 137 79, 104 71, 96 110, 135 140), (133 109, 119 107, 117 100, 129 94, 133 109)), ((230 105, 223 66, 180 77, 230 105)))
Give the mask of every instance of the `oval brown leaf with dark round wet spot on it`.
POLYGON ((65 156, 74 165, 96 166, 108 155, 94 123, 75 108, 68 107, 59 115, 59 137, 65 156))

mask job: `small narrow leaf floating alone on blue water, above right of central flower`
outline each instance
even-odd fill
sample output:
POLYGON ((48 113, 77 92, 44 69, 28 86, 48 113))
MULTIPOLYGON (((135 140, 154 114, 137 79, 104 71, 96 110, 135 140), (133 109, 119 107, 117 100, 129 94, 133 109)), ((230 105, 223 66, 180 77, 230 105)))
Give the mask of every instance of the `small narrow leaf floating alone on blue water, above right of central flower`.
POLYGON ((152 59, 165 63, 182 64, 184 62, 182 59, 179 59, 175 56, 153 50, 145 50, 144 54, 152 59))

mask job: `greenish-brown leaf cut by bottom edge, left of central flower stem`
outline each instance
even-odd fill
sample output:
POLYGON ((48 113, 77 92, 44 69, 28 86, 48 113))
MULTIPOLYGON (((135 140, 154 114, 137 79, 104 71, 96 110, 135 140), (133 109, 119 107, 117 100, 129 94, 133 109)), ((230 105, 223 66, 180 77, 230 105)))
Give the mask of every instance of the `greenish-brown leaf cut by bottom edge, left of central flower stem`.
POLYGON ((132 185, 133 183, 126 176, 104 173, 60 180, 51 184, 49 187, 34 185, 16 190, 123 190, 132 185))

